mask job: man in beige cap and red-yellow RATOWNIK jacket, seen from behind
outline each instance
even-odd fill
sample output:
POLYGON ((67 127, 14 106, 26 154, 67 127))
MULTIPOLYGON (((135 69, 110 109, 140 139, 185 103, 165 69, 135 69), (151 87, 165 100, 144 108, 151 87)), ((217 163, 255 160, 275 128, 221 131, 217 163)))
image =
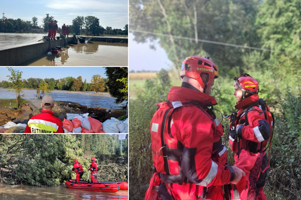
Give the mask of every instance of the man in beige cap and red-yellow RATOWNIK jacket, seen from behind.
POLYGON ((63 133, 62 121, 53 116, 53 98, 49 95, 44 96, 41 107, 41 114, 30 118, 24 133, 63 133))

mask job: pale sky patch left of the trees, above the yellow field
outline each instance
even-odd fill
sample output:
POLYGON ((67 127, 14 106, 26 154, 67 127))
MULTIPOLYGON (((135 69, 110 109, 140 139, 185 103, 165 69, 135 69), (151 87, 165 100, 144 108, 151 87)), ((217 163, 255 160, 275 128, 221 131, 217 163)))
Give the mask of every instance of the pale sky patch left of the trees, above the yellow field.
POLYGON ((171 68, 172 62, 158 41, 137 43, 133 39, 134 35, 129 33, 129 71, 160 71, 162 68, 171 68), (150 45, 154 45, 156 50, 151 49, 150 45))

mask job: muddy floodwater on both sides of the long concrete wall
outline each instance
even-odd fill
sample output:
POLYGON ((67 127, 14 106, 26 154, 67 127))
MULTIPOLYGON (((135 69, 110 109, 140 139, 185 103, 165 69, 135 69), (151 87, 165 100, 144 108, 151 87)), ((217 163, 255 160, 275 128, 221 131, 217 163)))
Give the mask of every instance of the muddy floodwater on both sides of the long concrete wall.
MULTIPOLYGON (((0 33, 0 50, 34 44, 46 33, 0 33)), ((58 35, 58 34, 57 34, 58 35)), ((43 42, 43 41, 40 41, 43 42)), ((21 66, 127 66, 128 44, 93 41, 69 44, 64 51, 38 56, 21 66)))

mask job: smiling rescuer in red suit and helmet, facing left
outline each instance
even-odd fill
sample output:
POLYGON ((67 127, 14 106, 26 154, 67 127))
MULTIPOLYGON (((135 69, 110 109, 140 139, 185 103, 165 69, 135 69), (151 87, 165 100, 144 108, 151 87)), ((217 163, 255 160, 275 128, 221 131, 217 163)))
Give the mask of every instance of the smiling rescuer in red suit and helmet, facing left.
POLYGON ((234 78, 236 113, 229 115, 229 147, 234 151, 235 165, 244 170, 243 177, 234 187, 234 199, 266 200, 263 193, 268 168, 265 150, 271 147, 274 117, 270 108, 259 99, 259 83, 249 74, 234 78))

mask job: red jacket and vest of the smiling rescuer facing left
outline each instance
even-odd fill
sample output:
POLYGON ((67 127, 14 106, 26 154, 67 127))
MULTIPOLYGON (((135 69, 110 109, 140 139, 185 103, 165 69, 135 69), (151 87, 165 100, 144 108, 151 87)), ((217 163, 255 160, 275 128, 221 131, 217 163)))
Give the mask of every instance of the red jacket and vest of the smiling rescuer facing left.
MULTIPOLYGON (((239 126, 236 130, 239 148, 251 153, 264 151, 273 127, 273 117, 268 105, 262 99, 259 100, 258 94, 255 94, 237 103, 235 108, 238 111, 232 115, 230 130, 236 130, 237 124, 245 123, 245 126, 239 126)), ((229 147, 237 154, 237 140, 231 136, 229 137, 229 147)))

